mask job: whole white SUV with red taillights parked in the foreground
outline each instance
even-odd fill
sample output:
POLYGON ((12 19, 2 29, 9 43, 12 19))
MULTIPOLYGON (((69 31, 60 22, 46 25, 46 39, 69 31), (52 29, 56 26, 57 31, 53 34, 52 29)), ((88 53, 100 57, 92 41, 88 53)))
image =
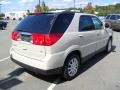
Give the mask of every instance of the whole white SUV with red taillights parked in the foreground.
POLYGON ((11 59, 44 75, 75 78, 88 58, 112 49, 112 30, 91 14, 34 13, 12 33, 11 59))

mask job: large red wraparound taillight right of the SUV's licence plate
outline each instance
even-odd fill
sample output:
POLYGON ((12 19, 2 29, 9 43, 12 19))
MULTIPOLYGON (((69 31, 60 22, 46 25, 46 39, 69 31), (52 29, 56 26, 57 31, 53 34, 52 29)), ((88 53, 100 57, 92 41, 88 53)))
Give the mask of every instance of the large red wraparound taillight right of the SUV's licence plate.
POLYGON ((63 33, 57 34, 32 34, 33 44, 51 46, 55 44, 61 37, 63 33))

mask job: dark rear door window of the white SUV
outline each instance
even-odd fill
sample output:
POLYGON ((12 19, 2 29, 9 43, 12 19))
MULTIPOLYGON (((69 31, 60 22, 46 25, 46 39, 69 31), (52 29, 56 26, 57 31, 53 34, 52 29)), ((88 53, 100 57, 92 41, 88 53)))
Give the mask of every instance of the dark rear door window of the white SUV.
POLYGON ((80 16, 79 31, 90 31, 90 30, 94 30, 94 25, 91 16, 88 15, 80 16))

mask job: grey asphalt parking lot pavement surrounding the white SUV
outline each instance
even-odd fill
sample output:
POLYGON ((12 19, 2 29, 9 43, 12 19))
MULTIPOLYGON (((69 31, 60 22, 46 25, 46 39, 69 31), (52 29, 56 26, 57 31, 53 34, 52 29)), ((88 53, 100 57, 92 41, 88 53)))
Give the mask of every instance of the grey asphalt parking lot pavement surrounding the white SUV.
POLYGON ((120 90, 120 32, 114 32, 110 54, 96 55, 74 80, 65 81, 59 75, 29 72, 10 60, 11 32, 18 23, 9 21, 6 30, 0 30, 0 90, 120 90))

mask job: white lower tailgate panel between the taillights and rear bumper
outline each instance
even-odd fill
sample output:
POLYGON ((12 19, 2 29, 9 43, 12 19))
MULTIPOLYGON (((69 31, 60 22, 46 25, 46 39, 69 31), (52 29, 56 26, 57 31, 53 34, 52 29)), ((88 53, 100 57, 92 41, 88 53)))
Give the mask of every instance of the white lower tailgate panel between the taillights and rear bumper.
POLYGON ((34 45, 32 43, 28 43, 24 41, 12 41, 12 43, 13 43, 12 48, 16 52, 21 53, 21 55, 38 60, 45 57, 44 46, 34 45))

